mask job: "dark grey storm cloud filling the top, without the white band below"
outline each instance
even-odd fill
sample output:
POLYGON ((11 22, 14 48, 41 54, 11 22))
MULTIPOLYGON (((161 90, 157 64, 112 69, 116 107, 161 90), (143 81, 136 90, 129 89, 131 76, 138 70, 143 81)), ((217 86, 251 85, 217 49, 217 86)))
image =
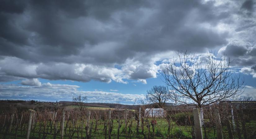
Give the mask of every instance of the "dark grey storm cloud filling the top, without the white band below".
POLYGON ((118 63, 133 57, 137 51, 155 53, 175 48, 214 47, 226 42, 225 34, 197 25, 200 22, 214 23, 226 16, 223 13, 214 15, 213 4, 199 1, 23 2, 16 5, 20 7, 14 7, 16 13, 12 10, 1 13, 1 37, 6 41, 1 45, 2 53, 34 62, 104 63, 100 56, 93 57, 103 51, 101 56, 108 57, 106 62, 118 63), (191 12, 195 14, 190 15, 191 12), (190 16, 193 21, 186 21, 190 16), (112 50, 115 57, 104 53, 104 48, 109 46, 90 52, 105 42, 118 42, 112 50), (22 55, 15 53, 14 49, 20 47, 29 50, 21 51, 22 55), (120 55, 122 51, 128 54, 120 55), (35 53, 38 58, 34 57, 35 53), (84 53, 83 57, 74 57, 73 61, 59 59, 81 53, 84 53))

